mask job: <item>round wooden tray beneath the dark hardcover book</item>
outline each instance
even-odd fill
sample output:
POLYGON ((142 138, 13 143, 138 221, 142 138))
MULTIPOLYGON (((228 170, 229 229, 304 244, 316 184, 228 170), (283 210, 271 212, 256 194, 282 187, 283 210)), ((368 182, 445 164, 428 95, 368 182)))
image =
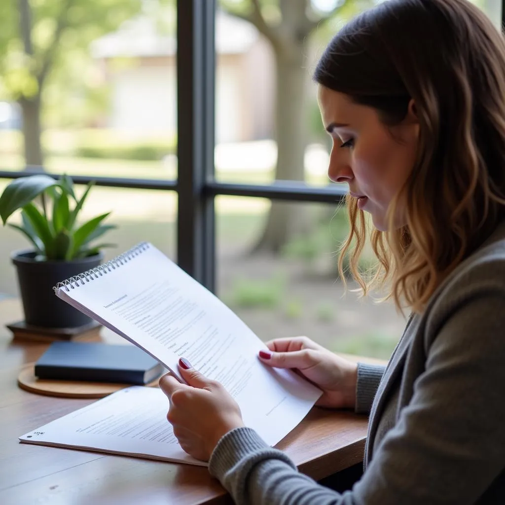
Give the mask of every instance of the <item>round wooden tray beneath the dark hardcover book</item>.
MULTIPOLYGON (((103 398, 132 384, 115 384, 108 382, 81 382, 63 380, 44 380, 35 376, 35 364, 23 367, 18 375, 18 386, 30 393, 64 398, 103 398)), ((146 386, 157 387, 158 379, 146 386)))

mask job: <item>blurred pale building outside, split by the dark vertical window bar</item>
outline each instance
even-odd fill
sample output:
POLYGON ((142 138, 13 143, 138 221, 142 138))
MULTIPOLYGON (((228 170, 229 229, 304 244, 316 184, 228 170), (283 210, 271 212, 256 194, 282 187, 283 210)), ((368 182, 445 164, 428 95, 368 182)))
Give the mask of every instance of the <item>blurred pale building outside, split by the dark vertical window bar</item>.
MULTIPOLYGON (((129 20, 91 46, 111 86, 104 126, 141 135, 177 132, 176 39, 147 16, 129 20)), ((270 138, 274 60, 251 24, 218 12, 216 19, 216 141, 270 138)))

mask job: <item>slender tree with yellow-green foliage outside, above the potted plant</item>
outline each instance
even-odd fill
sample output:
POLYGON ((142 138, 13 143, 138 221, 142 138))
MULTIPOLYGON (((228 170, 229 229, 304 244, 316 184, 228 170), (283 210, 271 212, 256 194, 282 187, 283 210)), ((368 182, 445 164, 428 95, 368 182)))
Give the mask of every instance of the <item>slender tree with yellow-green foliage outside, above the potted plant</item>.
POLYGON ((43 164, 41 106, 47 80, 65 54, 116 29, 140 0, 7 0, 0 2, 0 97, 23 116, 27 168, 43 164))

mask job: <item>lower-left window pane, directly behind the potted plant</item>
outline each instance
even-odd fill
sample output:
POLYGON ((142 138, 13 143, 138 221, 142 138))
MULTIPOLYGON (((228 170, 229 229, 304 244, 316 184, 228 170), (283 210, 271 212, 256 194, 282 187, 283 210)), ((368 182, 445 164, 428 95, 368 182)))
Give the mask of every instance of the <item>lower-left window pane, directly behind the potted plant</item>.
MULTIPOLYGON (((0 181, 3 192, 9 181, 0 181)), ((81 194, 83 186, 76 186, 81 194)), ((104 224, 114 224, 98 242, 116 244, 105 248, 105 261, 114 258, 141 241, 149 241, 169 258, 176 257, 177 194, 174 191, 93 187, 84 204, 79 222, 111 212, 104 224)), ((19 213, 12 217, 13 224, 20 224, 19 213)), ((0 231, 0 298, 17 295, 18 286, 14 266, 8 260, 13 251, 29 249, 30 244, 17 230, 6 226, 0 231)))

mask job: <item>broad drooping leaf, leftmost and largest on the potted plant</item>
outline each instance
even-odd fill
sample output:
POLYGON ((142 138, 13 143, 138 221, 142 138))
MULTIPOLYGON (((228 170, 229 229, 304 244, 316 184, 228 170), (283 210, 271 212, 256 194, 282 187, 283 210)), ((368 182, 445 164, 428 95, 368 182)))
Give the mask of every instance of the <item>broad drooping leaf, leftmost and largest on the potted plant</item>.
POLYGON ((13 212, 29 204, 45 189, 59 183, 48 175, 31 175, 12 181, 0 196, 0 217, 4 225, 13 212))

